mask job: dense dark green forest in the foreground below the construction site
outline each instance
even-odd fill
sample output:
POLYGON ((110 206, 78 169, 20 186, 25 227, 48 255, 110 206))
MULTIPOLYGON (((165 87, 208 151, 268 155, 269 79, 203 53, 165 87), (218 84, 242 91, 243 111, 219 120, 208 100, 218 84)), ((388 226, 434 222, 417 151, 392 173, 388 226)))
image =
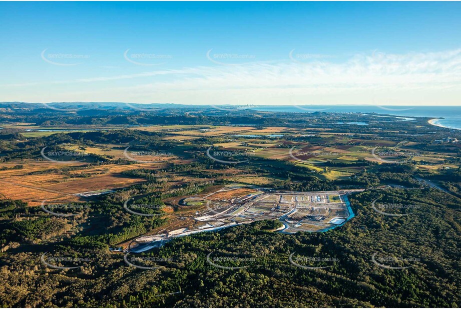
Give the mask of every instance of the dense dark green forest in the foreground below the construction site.
POLYGON ((459 306, 459 199, 434 189, 370 189, 349 199, 356 217, 333 230, 282 234, 269 231, 271 224, 256 222, 180 237, 139 254, 168 260, 158 262, 165 267, 154 270, 130 267, 124 263, 123 253, 110 253, 107 244, 97 239, 85 242, 78 236, 55 243, 47 254, 65 251, 80 256, 82 267, 52 269, 41 263, 43 251, 36 244, 34 250, 7 253, 0 259, 1 303, 69 307, 459 306), (371 207, 376 199, 415 206, 409 215, 386 216, 371 207), (221 262, 247 267, 220 269, 207 262, 210 252, 253 257, 253 261, 221 262), (331 265, 304 269, 289 262, 293 252, 335 262, 301 259, 306 265, 331 265), (382 263, 411 267, 380 267, 372 262, 374 253, 382 257, 382 263))

